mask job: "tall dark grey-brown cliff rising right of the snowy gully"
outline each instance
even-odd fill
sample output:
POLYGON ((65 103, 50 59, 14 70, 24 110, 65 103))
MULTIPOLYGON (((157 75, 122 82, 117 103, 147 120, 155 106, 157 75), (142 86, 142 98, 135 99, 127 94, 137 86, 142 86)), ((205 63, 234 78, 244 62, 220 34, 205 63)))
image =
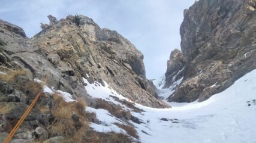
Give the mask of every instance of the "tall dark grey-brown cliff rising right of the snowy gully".
POLYGON ((200 0, 184 11, 180 35, 186 68, 169 101, 207 100, 256 69, 255 7, 255 0, 200 0))

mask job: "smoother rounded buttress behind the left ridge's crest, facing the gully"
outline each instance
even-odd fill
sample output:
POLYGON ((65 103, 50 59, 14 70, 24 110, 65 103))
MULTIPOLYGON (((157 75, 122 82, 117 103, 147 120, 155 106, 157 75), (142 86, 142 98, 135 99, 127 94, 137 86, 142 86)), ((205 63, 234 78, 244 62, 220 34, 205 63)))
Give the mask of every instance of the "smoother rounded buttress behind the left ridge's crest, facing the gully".
POLYGON ((83 15, 77 15, 74 17, 76 24, 79 26, 83 34, 88 36, 88 39, 92 42, 104 42, 111 43, 110 45, 101 46, 109 54, 118 55, 121 60, 128 63, 131 66, 132 71, 139 76, 146 78, 143 54, 138 51, 131 42, 119 35, 118 32, 109 29, 101 29, 91 18, 83 15))

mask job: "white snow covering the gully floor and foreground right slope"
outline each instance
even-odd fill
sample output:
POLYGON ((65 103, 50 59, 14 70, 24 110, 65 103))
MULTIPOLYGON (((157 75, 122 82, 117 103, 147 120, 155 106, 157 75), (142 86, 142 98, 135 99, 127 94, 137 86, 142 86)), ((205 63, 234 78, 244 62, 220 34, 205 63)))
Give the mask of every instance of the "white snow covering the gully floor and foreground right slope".
MULTIPOLYGON (((85 79, 85 82, 86 79, 85 79)), ((103 98, 115 104, 121 104, 110 95, 128 100, 113 91, 107 84, 87 82, 88 94, 94 98, 103 98)), ((237 80, 225 91, 213 95, 204 102, 170 103, 172 108, 150 108, 140 104, 136 107, 144 110, 131 114, 138 117, 140 124, 131 122, 140 136, 141 142, 256 142, 256 70, 251 71, 237 80)), ((89 108, 97 116, 106 116, 107 124, 111 125, 110 114, 89 108)), ((101 109, 98 109, 101 110, 101 109)), ((100 117, 103 120, 104 117, 100 117)), ((101 130, 107 125, 91 125, 101 130)), ((116 126, 113 127, 116 130, 116 126)), ((120 129, 121 130, 121 129, 120 129)), ((104 130, 102 130, 104 131, 104 130)), ((108 130, 106 130, 107 132, 108 130)))

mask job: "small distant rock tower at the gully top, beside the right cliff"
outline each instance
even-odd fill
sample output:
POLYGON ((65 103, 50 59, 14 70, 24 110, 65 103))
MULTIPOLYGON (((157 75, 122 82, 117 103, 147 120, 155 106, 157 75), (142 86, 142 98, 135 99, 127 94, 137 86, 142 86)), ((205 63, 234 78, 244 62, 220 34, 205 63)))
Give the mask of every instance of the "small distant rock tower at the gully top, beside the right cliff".
POLYGON ((185 69, 185 60, 179 49, 171 51, 170 60, 167 61, 167 70, 165 72, 165 85, 163 88, 169 88, 177 80, 182 80, 185 69))

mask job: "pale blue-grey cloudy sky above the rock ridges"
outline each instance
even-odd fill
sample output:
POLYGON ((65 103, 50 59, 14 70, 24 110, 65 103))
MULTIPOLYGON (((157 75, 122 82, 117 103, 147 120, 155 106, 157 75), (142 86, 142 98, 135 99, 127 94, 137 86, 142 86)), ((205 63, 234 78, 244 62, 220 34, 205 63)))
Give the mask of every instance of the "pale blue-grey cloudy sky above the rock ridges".
POLYGON ((31 38, 47 15, 91 17, 101 28, 116 30, 144 55, 146 76, 162 76, 174 48, 180 49, 183 10, 194 0, 1 0, 0 18, 16 24, 31 38))

